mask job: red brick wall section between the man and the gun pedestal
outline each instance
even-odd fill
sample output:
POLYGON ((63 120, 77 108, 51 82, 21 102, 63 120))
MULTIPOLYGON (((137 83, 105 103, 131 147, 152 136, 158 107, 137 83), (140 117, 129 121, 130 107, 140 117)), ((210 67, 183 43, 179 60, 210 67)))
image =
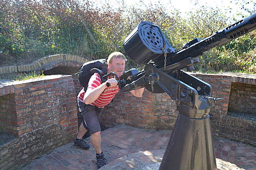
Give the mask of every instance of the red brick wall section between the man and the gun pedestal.
POLYGON ((119 92, 99 119, 107 127, 124 124, 161 130, 174 126, 177 113, 176 102, 167 94, 145 90, 142 98, 136 98, 130 92, 119 92))

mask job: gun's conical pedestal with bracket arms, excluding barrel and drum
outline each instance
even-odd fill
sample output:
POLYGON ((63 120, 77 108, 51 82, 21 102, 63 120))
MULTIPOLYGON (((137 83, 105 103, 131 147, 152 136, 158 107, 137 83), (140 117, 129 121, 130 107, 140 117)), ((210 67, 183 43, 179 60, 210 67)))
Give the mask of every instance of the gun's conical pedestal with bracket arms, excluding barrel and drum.
POLYGON ((179 70, 173 74, 145 68, 150 74, 148 90, 166 92, 177 102, 178 118, 165 150, 160 170, 216 170, 209 112, 219 99, 211 98, 211 86, 179 70))

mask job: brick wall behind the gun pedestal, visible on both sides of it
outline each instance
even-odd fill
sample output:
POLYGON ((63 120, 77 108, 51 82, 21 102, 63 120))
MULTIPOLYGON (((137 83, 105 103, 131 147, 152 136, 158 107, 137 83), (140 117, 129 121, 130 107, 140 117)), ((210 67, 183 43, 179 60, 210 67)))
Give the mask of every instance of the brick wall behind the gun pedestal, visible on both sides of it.
MULTIPOLYGON (((252 120, 227 115, 228 106, 236 100, 229 99, 233 83, 244 83, 250 90, 256 87, 256 77, 237 77, 232 74, 192 74, 212 86, 212 95, 215 98, 224 98, 218 101, 210 111, 212 133, 216 136, 227 137, 256 145, 254 132, 256 123, 252 120), (230 101, 231 100, 231 101, 230 101)), ((246 76, 246 75, 241 75, 246 76)), ((245 92, 248 93, 248 92, 245 92)), ((255 107, 254 93, 250 97, 247 110, 255 107), (251 105, 250 105, 251 104, 251 105), (249 107, 248 107, 249 106, 249 107)), ((249 100, 249 99, 248 99, 249 100)), ((155 94, 145 90, 142 98, 135 98, 130 92, 118 93, 108 110, 100 115, 103 125, 110 127, 116 124, 125 124, 143 129, 172 130, 178 111, 176 102, 166 93, 155 94)))

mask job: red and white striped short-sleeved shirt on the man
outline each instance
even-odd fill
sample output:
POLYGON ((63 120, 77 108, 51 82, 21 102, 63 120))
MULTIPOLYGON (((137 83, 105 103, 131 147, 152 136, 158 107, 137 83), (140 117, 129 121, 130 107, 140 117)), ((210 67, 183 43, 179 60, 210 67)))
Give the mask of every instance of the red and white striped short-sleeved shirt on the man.
MULTIPOLYGON (((88 83, 88 88, 94 89, 101 84, 101 80, 99 75, 95 72, 95 74, 90 78, 88 83)), ((115 95, 118 93, 119 87, 106 87, 105 90, 99 95, 99 97, 91 103, 91 105, 96 106, 98 108, 103 108, 104 106, 108 105, 115 95)), ((78 99, 83 102, 84 96, 84 88, 79 92, 78 99)))

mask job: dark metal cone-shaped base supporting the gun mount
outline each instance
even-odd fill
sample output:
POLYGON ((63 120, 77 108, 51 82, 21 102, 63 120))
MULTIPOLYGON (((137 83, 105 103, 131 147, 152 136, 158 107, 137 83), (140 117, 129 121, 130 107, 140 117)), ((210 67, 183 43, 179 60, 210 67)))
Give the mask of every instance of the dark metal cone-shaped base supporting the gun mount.
MULTIPOLYGON (((159 170, 216 170, 209 114, 203 118, 187 116, 181 106, 159 170)), ((208 110, 208 109, 207 109, 208 110)))

